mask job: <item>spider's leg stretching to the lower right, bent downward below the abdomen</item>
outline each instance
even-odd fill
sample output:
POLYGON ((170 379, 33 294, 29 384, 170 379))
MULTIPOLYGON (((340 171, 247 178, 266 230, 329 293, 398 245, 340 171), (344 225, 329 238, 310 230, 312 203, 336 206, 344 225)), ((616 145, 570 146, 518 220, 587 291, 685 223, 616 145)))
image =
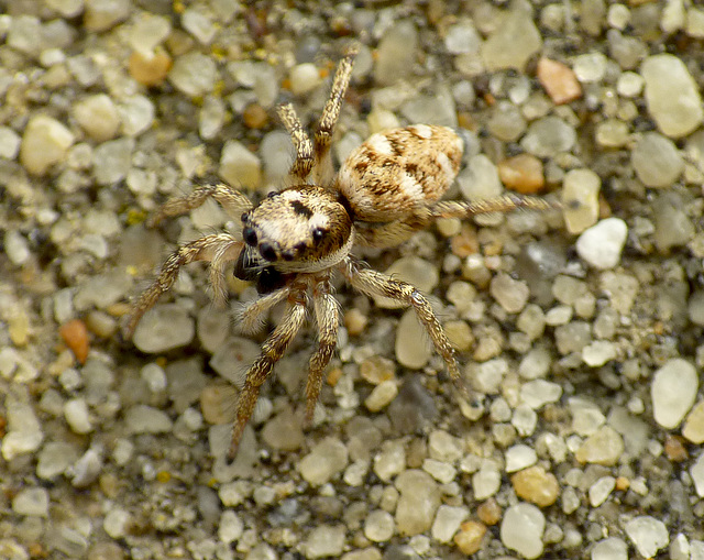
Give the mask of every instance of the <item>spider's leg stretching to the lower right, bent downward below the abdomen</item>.
POLYGON ((469 388, 460 375, 460 367, 454 358, 454 349, 448 340, 438 317, 436 316, 428 299, 411 284, 395 281, 371 268, 364 268, 348 259, 344 263, 343 273, 348 282, 367 296, 384 296, 411 306, 418 320, 430 334, 430 339, 438 353, 444 360, 452 382, 460 388, 464 396, 470 396, 469 388))

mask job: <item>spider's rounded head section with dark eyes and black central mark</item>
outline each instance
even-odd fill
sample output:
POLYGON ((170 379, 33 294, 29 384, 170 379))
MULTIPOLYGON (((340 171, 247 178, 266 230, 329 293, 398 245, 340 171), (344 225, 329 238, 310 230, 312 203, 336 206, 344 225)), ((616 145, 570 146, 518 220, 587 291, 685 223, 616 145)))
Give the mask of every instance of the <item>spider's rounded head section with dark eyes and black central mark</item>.
POLYGON ((252 263, 280 272, 317 272, 344 259, 352 219, 336 195, 305 185, 275 193, 242 215, 252 263))

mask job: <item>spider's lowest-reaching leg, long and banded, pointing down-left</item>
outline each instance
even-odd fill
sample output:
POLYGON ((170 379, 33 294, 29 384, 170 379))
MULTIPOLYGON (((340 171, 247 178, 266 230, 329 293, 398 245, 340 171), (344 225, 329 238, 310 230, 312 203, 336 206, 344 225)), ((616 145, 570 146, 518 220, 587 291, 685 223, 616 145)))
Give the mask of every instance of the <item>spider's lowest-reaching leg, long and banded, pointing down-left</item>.
POLYGON ((290 286, 284 319, 266 338, 262 344, 262 353, 246 372, 232 426, 229 461, 233 461, 238 453, 244 427, 254 413, 262 384, 272 373, 274 364, 282 359, 306 319, 306 289, 307 286, 304 283, 295 283, 290 286))

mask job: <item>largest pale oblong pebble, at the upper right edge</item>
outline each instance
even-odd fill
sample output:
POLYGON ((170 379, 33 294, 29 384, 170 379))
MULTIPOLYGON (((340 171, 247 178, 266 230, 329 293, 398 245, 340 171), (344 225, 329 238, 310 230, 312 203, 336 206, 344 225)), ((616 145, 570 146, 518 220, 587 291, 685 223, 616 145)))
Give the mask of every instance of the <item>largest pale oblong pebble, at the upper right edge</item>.
POLYGON ((646 103, 658 129, 670 138, 693 132, 704 120, 702 98, 684 63, 671 54, 646 58, 640 67, 646 103))

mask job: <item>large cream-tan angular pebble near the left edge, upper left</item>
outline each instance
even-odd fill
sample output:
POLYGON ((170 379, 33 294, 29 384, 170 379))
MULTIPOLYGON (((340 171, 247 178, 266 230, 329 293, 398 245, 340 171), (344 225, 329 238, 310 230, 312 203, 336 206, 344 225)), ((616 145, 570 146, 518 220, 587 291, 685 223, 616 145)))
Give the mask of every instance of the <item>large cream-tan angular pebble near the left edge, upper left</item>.
POLYGON ((32 117, 22 135, 20 163, 32 175, 44 175, 66 158, 74 140, 74 134, 56 119, 32 117))

